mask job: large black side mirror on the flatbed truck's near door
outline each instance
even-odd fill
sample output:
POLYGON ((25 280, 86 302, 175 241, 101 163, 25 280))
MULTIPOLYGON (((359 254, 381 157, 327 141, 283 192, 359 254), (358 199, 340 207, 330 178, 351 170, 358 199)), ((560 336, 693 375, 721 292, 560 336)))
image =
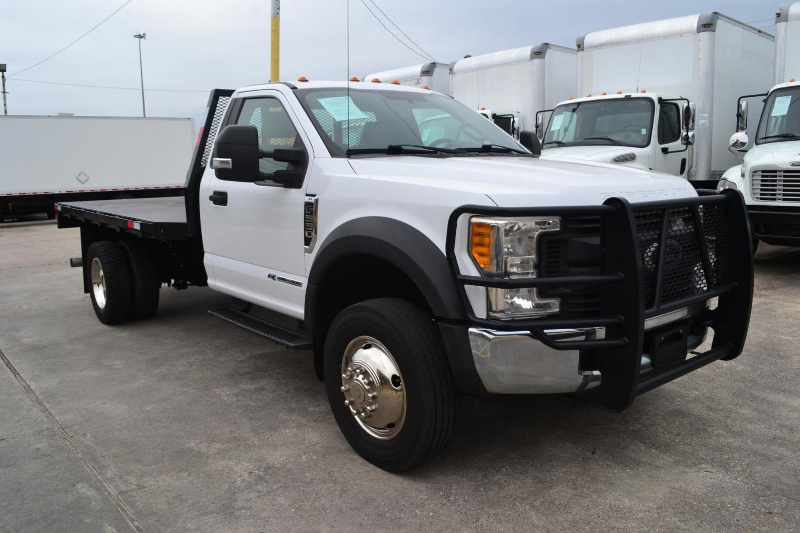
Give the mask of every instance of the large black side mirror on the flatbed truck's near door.
POLYGON ((214 141, 211 168, 220 180, 258 181, 258 129, 254 125, 229 125, 214 141))

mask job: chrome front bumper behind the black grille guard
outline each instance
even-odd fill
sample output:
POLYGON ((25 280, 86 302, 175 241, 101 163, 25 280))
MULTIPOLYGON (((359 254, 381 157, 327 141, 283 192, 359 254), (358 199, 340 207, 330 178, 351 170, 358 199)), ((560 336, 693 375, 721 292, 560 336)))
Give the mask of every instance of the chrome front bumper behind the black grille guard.
MULTIPOLYGON (((645 329, 658 328, 688 316, 688 308, 654 316, 645 329)), ((600 340, 606 328, 550 329, 553 340, 600 340)), ((486 392, 494 394, 553 394, 580 392, 597 387, 602 380, 598 370, 581 371, 578 350, 556 350, 534 339, 530 332, 501 332, 470 328, 470 346, 475 369, 486 392)), ((690 336, 689 349, 705 340, 690 336)), ((652 368, 649 354, 642 355, 641 372, 652 368)))

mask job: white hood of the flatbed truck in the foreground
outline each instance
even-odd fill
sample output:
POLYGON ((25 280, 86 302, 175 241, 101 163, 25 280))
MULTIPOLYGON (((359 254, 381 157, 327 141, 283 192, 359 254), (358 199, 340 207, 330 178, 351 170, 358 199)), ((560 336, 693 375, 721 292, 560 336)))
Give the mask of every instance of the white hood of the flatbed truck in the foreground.
POLYGON ((680 177, 561 157, 397 156, 349 161, 360 176, 485 194, 502 207, 598 205, 610 197, 639 202, 697 196, 680 177))

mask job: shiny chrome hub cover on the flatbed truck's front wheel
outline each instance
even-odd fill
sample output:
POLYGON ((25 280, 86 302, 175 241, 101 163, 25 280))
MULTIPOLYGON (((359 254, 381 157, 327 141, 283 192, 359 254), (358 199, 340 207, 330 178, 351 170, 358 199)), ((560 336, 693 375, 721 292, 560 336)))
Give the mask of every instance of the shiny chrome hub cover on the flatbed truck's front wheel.
POLYGON ((350 414, 370 436, 398 435, 406 421, 406 387, 394 357, 378 340, 359 336, 347 345, 341 390, 350 414))

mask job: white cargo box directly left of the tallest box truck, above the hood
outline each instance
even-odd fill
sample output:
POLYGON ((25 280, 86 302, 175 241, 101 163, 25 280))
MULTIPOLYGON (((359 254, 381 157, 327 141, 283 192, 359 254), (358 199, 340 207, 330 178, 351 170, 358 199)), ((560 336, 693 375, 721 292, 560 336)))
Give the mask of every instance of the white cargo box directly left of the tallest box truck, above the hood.
POLYGON ((533 131, 536 113, 575 93, 575 50, 542 43, 459 59, 450 90, 473 109, 518 112, 533 131))

